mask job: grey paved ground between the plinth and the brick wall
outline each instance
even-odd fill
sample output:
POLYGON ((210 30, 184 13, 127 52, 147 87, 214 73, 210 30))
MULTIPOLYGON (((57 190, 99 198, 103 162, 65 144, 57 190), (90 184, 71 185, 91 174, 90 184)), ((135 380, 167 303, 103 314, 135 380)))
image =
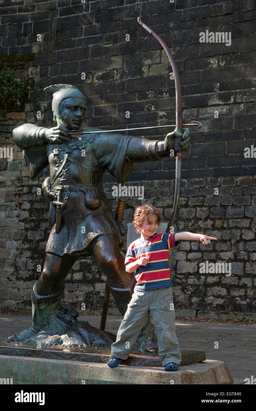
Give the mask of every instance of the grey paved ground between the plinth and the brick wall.
MULTIPOLYGON (((122 316, 108 316, 106 330, 117 333, 122 316)), ((92 326, 100 325, 100 316, 83 316, 92 326)), ((31 326, 31 316, 0 315, 0 341, 31 326)), ((153 323, 153 321, 152 321, 153 323)), ((239 324, 197 323, 177 321, 176 335, 180 348, 205 351, 208 360, 224 361, 234 384, 256 378, 256 326, 239 324), (216 342, 218 349, 214 348, 216 342)))

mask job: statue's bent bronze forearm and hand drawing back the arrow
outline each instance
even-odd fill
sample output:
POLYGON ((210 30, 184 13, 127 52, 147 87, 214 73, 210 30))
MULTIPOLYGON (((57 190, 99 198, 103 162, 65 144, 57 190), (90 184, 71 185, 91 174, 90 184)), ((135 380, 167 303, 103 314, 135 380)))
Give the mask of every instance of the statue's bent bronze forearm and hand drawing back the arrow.
POLYGON ((22 124, 13 130, 12 136, 18 147, 24 149, 44 143, 58 144, 70 141, 67 136, 68 130, 64 126, 56 126, 50 129, 37 127, 35 124, 22 124))

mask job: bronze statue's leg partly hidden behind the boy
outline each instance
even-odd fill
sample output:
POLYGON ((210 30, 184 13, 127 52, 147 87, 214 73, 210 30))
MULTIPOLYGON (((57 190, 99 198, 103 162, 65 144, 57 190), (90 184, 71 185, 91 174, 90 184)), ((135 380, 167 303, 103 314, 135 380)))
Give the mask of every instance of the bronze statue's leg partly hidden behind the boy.
MULTIPOLYGON (((120 313, 125 315, 136 280, 134 273, 125 271, 125 259, 120 253, 117 236, 107 234, 98 237, 92 243, 90 251, 108 278, 111 295, 115 299, 120 313)), ((136 343, 140 351, 154 352, 157 350, 157 337, 149 315, 136 343)))

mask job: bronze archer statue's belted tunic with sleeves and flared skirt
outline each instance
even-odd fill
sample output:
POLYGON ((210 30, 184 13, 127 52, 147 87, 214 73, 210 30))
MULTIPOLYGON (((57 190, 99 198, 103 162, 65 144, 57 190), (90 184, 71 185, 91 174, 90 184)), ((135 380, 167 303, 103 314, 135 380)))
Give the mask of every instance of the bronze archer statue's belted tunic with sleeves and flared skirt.
POLYGON ((117 236, 121 244, 120 229, 102 187, 104 173, 108 170, 118 183, 123 184, 136 161, 157 161, 168 153, 161 153, 158 157, 157 141, 109 133, 83 134, 79 139, 73 138, 63 144, 42 144, 36 138, 38 130, 35 125, 26 124, 22 133, 17 133, 15 129, 13 137, 24 150, 23 157, 30 178, 35 178, 49 164, 53 191, 58 192, 57 187, 62 186, 61 201, 67 199, 59 233, 55 232, 56 209, 51 203, 49 220, 52 228, 46 252, 59 256, 83 253, 89 251, 96 238, 108 233, 117 236), (67 154, 65 166, 59 172, 67 154), (92 210, 87 207, 87 193, 97 194, 101 199, 99 208, 92 210))

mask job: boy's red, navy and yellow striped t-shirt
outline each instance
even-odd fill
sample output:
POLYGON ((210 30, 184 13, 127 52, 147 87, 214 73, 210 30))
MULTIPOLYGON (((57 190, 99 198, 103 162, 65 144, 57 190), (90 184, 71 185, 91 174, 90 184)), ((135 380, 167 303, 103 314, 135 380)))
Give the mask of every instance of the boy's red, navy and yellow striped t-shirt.
POLYGON ((148 257, 148 264, 139 266, 136 270, 137 284, 134 290, 152 290, 155 288, 171 287, 169 268, 169 249, 176 247, 175 233, 154 234, 148 240, 135 240, 129 245, 125 257, 125 265, 133 263, 141 257, 148 257))

